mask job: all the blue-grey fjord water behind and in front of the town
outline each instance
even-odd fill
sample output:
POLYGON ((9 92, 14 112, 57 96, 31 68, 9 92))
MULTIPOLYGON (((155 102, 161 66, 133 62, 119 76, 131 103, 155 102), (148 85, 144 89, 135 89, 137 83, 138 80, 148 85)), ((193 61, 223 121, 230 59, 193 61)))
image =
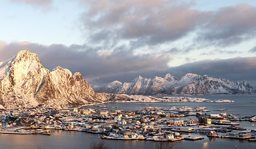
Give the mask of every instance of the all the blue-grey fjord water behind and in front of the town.
MULTIPOLYGON (((166 108, 169 106, 205 106, 210 112, 222 113, 217 109, 227 109, 227 114, 252 116, 256 115, 256 95, 218 95, 218 96, 189 96, 200 97, 210 100, 229 99, 236 101, 235 103, 148 103, 151 107, 166 108)), ((146 103, 111 103, 112 106, 119 106, 124 111, 144 109, 146 103)), ((89 107, 88 107, 89 108, 89 107)), ((91 107, 95 108, 95 107, 91 107)), ((98 107, 97 107, 98 108, 98 107)), ((98 108, 100 109, 100 108, 98 108)), ((188 117, 183 117, 186 119, 188 117)), ((191 117, 196 119, 197 117, 191 117)), ((248 123, 248 121, 237 121, 240 126, 248 129, 256 129, 256 123, 248 123)), ((88 149, 90 142, 93 140, 100 141, 101 134, 91 134, 86 132, 49 130, 50 136, 45 135, 0 135, 0 149, 36 149, 41 146, 44 149, 88 149)), ((185 134, 185 133, 184 133, 185 134)), ((204 140, 189 141, 182 140, 175 143, 175 149, 255 149, 256 142, 248 142, 247 140, 208 138, 205 134, 189 133, 189 135, 203 136, 204 140)), ((106 140, 112 149, 154 149, 153 141, 146 140, 106 140)))

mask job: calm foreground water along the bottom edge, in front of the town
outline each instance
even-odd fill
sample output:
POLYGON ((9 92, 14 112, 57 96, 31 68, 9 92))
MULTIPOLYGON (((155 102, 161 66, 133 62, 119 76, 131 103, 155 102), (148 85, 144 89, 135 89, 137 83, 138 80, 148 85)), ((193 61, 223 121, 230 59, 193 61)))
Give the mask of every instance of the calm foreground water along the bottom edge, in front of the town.
MULTIPOLYGON (((95 135, 86 132, 70 132, 51 130, 51 136, 45 135, 0 135, 1 149, 36 149, 42 146, 44 149, 88 149, 93 140, 100 141, 95 135)), ((191 135, 204 136, 204 140, 175 142, 175 149, 255 149, 255 142, 247 140, 207 138, 204 134, 193 133, 191 135)), ((142 140, 107 140, 113 149, 154 149, 153 141, 142 140)))

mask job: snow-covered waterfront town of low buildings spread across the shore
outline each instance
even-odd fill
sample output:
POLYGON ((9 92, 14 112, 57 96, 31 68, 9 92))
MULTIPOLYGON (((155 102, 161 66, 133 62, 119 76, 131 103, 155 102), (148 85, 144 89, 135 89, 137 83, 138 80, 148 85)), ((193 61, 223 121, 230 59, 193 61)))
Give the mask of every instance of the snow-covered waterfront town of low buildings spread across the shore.
MULTIPOLYGON (((204 114, 206 107, 147 107, 123 111, 119 107, 95 106, 1 110, 0 133, 50 135, 47 129, 102 134, 102 139, 179 141, 233 138, 255 141, 256 130, 239 127, 236 121, 256 122, 256 116, 238 117, 227 113, 204 114), (101 109, 99 108, 101 107, 101 109), (103 108, 102 108, 103 107, 103 108), (99 109, 97 109, 99 108, 99 109), (196 116, 196 119, 186 118, 196 116), (185 135, 188 134, 189 135, 185 135), (201 135, 190 135, 200 133, 201 135), (203 137, 204 136, 204 137, 203 137)), ((218 110, 223 111, 223 109, 218 110)))

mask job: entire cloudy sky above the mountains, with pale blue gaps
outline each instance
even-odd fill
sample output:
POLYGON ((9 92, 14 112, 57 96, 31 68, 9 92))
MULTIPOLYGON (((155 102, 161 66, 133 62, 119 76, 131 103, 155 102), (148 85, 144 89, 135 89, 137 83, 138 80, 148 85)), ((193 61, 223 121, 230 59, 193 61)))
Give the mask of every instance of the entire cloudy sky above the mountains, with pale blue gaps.
POLYGON ((256 89, 255 0, 1 0, 0 61, 23 49, 91 84, 186 73, 256 89))

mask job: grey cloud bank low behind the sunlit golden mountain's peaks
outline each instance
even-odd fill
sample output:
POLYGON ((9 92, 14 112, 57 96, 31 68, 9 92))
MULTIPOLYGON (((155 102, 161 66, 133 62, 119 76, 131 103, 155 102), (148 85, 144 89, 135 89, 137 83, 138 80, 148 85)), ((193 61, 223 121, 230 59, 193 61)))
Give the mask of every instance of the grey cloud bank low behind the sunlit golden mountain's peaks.
POLYGON ((87 80, 108 75, 140 74, 146 70, 168 68, 171 60, 164 55, 134 55, 126 47, 113 51, 101 51, 102 47, 87 45, 52 44, 44 46, 38 43, 9 43, 0 49, 0 61, 16 55, 22 49, 38 54, 43 66, 49 70, 56 66, 70 69, 71 72, 81 72, 87 80))

